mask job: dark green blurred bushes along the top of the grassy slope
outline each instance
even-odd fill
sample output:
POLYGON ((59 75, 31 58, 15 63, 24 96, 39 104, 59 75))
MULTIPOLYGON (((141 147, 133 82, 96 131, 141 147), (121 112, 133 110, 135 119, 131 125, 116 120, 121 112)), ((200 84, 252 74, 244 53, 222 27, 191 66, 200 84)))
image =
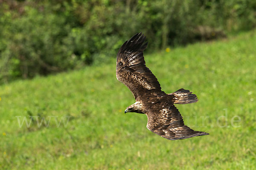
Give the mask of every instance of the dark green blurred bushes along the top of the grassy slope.
POLYGON ((0 0, 0 83, 107 62, 143 31, 148 49, 256 26, 255 0, 0 0))

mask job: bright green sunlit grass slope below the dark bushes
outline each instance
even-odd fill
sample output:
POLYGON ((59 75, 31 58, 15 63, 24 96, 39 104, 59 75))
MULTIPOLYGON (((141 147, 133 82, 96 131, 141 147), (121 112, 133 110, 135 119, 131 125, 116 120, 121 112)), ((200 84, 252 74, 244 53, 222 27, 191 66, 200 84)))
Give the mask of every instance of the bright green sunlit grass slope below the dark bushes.
POLYGON ((115 59, 1 85, 0 169, 256 169, 255 44, 252 31, 145 54, 163 91, 185 88, 199 98, 176 106, 186 125, 210 135, 184 140, 150 132, 143 114, 124 114, 135 100, 116 80, 115 59), (34 118, 27 128, 19 127, 16 116, 34 118), (38 127, 35 116, 39 121, 52 116, 49 127, 38 127), (234 116, 241 121, 232 125, 239 119, 234 116), (55 119, 69 122, 58 127, 55 119))

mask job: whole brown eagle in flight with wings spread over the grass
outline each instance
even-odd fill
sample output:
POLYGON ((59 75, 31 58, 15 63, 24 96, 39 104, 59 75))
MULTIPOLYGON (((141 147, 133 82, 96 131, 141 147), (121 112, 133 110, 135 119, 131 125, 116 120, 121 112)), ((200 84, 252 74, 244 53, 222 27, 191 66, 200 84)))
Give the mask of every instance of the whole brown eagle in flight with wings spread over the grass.
POLYGON ((125 113, 147 115, 147 128, 169 140, 208 135, 209 133, 195 131, 184 125, 182 116, 174 105, 197 102, 197 96, 183 88, 166 94, 161 90, 157 78, 146 67, 143 51, 148 43, 145 38, 142 33, 135 34, 117 53, 116 78, 130 89, 136 100, 126 108, 125 113))

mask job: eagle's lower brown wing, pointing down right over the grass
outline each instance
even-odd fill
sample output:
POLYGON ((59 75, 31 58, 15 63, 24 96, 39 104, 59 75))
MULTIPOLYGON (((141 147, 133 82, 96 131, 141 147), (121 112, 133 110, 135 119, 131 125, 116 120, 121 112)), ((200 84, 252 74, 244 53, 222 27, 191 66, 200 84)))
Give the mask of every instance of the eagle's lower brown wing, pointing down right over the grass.
POLYGON ((184 125, 182 116, 174 105, 170 105, 167 108, 160 108, 160 110, 153 109, 147 116, 147 128, 169 140, 209 135, 209 133, 195 131, 184 125))

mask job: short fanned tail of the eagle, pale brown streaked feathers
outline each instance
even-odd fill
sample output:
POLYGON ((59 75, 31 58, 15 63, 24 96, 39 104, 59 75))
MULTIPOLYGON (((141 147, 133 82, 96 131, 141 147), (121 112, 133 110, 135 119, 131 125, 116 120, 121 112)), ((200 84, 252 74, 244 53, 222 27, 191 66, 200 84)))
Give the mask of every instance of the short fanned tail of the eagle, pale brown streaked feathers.
POLYGON ((198 98, 195 94, 192 94, 191 91, 185 90, 183 88, 169 95, 172 96, 174 104, 188 104, 188 103, 195 103, 198 101, 198 98))

